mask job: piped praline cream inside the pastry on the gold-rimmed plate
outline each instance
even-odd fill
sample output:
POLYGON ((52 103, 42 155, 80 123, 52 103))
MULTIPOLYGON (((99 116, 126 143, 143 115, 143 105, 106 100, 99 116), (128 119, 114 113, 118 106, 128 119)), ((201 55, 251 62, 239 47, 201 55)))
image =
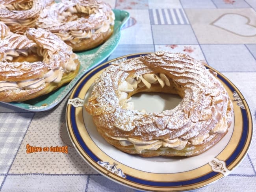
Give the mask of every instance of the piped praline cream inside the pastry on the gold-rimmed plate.
MULTIPOLYGON (((165 74, 144 74, 136 77, 129 77, 126 81, 119 84, 118 90, 121 92, 119 96, 120 102, 126 103, 124 106, 126 109, 133 110, 134 104, 129 102, 131 98, 128 98, 129 92, 134 92, 139 87, 147 87, 150 89, 151 84, 159 84, 162 88, 167 85, 170 87, 170 79, 165 76, 165 74)), ((185 148, 186 144, 199 145, 202 144, 210 135, 214 133, 224 133, 228 129, 228 125, 225 118, 221 118, 219 123, 212 129, 209 133, 204 135, 198 135, 197 137, 191 138, 189 140, 183 140, 181 138, 174 139, 164 139, 164 140, 149 140, 142 141, 129 137, 113 137, 109 136, 115 140, 119 140, 122 146, 134 145, 135 150, 138 153, 143 152, 143 150, 166 150, 172 148, 175 150, 182 150, 185 148)))

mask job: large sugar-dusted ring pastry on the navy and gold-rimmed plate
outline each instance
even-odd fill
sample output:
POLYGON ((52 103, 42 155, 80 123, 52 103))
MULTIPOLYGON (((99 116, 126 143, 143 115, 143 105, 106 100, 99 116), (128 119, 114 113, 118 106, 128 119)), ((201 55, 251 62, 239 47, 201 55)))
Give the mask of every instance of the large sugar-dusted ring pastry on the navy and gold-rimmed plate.
POLYGON ((233 106, 216 74, 185 54, 156 52, 109 66, 96 80, 85 109, 98 132, 127 153, 193 156, 228 131, 233 106), (166 92, 183 99, 174 109, 134 110, 137 92, 166 92))

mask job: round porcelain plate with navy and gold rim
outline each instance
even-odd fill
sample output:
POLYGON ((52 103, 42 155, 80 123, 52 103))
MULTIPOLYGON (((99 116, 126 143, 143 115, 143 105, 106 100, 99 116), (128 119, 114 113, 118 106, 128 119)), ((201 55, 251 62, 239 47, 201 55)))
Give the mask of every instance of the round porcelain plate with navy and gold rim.
MULTIPOLYGON (((139 55, 145 54, 126 55, 117 59, 139 55)), ((215 182, 228 175, 243 160, 252 139, 250 110, 235 85, 213 68, 211 69, 217 72, 217 78, 224 85, 234 105, 232 126, 213 148, 195 157, 142 158, 126 154, 108 144, 96 131, 92 117, 85 111, 83 103, 90 95, 95 78, 117 59, 87 72, 74 87, 67 104, 66 122, 70 139, 78 153, 96 171, 117 183, 139 190, 179 191, 192 190, 215 182)), ((141 103, 144 107, 156 99, 152 96, 144 99, 135 97, 135 106, 141 103), (136 100, 139 102, 136 103, 136 100)), ((161 100, 164 100, 164 96, 161 96, 161 100)), ((157 104, 160 106, 157 110, 163 110, 166 103, 169 105, 168 97, 162 103, 161 100, 157 104)), ((178 98, 174 100, 177 102, 178 98)))

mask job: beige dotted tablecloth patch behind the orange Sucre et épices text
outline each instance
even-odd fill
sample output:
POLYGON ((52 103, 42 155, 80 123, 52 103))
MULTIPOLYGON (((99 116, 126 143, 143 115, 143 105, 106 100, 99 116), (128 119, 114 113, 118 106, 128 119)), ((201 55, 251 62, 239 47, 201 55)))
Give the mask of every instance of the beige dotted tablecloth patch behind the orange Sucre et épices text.
POLYGON ((71 144, 65 124, 67 98, 51 111, 36 113, 17 156, 11 174, 95 174, 71 144), (37 147, 68 146, 68 153, 42 151, 26 153, 26 145, 37 147))

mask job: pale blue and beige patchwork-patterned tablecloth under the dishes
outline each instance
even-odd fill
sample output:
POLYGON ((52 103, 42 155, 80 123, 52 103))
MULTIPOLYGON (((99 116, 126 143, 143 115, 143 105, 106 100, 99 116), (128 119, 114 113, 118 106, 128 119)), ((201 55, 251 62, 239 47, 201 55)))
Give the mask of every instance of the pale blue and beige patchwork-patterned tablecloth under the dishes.
MULTIPOLYGON (((130 13, 109 59, 158 50, 189 54, 237 86, 256 124, 256 0, 107 2, 130 13)), ((110 181, 83 161, 67 135, 66 105, 67 98, 50 111, 32 113, 0 104, 0 190, 136 191, 110 181), (28 154, 27 144, 68 146, 68 153, 28 154)), ((248 154, 230 175, 195 191, 255 191, 254 138, 248 154)))

